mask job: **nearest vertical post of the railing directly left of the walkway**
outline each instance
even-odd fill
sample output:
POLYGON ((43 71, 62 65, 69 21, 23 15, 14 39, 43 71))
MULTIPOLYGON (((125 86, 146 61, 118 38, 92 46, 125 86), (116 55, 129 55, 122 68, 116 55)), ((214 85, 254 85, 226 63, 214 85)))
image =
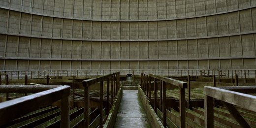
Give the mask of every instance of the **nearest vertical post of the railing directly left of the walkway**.
POLYGON ((84 95, 85 95, 85 98, 84 98, 84 128, 89 128, 90 126, 90 110, 89 110, 89 107, 90 107, 90 91, 89 91, 89 86, 88 85, 84 85, 83 83, 83 86, 84 86, 84 95))

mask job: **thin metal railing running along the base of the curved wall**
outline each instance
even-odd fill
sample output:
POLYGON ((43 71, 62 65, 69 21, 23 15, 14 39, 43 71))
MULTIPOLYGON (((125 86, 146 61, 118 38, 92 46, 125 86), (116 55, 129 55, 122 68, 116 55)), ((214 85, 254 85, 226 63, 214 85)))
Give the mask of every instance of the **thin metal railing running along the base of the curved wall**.
POLYGON ((140 75, 155 74, 161 76, 213 76, 232 78, 235 74, 239 78, 255 78, 256 69, 79 69, 79 70, 0 70, 0 76, 5 79, 5 75, 8 74, 10 79, 24 79, 25 75, 28 78, 46 78, 47 75, 55 77, 88 77, 88 76, 102 76, 111 74, 114 72, 120 72, 120 75, 132 74, 140 75))

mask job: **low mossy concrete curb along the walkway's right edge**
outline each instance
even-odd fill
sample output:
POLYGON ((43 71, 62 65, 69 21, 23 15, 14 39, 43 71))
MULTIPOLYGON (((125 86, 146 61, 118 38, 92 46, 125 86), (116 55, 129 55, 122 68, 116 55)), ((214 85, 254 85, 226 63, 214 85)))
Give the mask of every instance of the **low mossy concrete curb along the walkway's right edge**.
POLYGON ((142 105, 146 111, 147 117, 148 117, 148 121, 149 124, 151 126, 151 128, 164 128, 160 118, 157 116, 157 114, 155 113, 154 109, 152 108, 152 106, 150 105, 149 99, 147 98, 147 96, 143 93, 142 89, 140 88, 140 86, 138 86, 138 96, 142 102, 142 105))

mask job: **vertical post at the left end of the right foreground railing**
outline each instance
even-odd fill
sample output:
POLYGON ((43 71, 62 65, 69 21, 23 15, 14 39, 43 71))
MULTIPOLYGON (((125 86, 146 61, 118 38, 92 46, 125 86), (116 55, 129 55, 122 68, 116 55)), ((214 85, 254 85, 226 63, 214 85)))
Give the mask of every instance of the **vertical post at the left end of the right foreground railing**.
POLYGON ((213 97, 204 96, 204 128, 214 128, 213 126, 213 97))

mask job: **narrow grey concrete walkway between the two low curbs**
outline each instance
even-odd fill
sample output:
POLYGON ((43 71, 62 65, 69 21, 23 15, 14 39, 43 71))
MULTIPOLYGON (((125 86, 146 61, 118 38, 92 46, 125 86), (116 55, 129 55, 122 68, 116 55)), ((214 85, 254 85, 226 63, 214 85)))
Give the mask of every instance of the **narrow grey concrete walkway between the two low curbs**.
POLYGON ((150 128, 137 90, 123 90, 115 128, 150 128))

